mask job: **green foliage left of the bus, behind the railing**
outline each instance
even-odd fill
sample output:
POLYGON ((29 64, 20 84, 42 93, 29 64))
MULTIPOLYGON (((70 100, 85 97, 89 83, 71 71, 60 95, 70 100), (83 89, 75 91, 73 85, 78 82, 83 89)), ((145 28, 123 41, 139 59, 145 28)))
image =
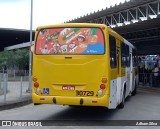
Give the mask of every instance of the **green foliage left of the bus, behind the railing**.
POLYGON ((29 64, 29 50, 18 49, 16 51, 3 51, 0 52, 0 68, 13 68, 14 66, 19 69, 25 69, 29 64))

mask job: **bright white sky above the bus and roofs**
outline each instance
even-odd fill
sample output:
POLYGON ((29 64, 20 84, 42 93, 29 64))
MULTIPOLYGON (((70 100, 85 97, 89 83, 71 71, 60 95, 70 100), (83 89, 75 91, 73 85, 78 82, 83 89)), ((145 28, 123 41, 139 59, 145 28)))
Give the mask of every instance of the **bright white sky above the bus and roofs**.
MULTIPOLYGON (((129 1, 129 0, 126 0, 129 1)), ((33 30, 93 13, 125 0, 33 0, 33 30)), ((0 28, 30 29, 31 0, 0 0, 0 28)))

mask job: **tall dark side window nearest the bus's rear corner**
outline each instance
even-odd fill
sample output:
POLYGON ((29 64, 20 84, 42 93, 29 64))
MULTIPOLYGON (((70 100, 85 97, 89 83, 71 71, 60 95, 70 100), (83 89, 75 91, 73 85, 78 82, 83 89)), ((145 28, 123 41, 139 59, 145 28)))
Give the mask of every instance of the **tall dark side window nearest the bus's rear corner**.
POLYGON ((117 53, 116 53, 116 39, 112 35, 109 35, 110 46, 110 66, 111 68, 117 67, 117 53))

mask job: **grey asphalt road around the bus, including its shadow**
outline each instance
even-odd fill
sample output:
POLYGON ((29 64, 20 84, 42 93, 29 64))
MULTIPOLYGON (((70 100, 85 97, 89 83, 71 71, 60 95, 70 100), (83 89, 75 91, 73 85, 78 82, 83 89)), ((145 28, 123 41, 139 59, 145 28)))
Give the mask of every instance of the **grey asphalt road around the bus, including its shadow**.
MULTIPOLYGON (((160 120, 160 92, 139 89, 136 96, 126 99, 123 109, 109 110, 101 107, 68 107, 61 105, 29 104, 20 108, 0 111, 0 120, 160 120)), ((68 126, 67 126, 68 127, 68 126)), ((96 127, 96 126, 94 126, 96 127)), ((48 127, 49 128, 49 127, 48 127)), ((59 126, 59 128, 63 128, 59 126)), ((72 126, 72 128, 79 128, 72 126)), ((82 128, 85 128, 83 126, 82 128)), ((89 126, 86 128, 90 128, 89 126)), ((104 128, 98 126, 99 129, 104 128)), ((114 127, 110 127, 112 129, 114 127)), ((128 127, 129 129, 150 129, 150 127, 128 127)), ((152 127, 159 129, 160 127, 152 127)), ((117 129, 127 129, 117 127, 117 129)))

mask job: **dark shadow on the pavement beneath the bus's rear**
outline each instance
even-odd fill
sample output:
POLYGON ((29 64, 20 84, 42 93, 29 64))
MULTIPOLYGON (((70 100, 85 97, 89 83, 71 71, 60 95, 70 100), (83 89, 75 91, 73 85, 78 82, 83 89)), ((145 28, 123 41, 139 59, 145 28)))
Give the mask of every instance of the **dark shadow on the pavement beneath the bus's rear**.
POLYGON ((99 120, 111 118, 119 109, 109 110, 105 107, 68 107, 45 118, 45 120, 99 120))

